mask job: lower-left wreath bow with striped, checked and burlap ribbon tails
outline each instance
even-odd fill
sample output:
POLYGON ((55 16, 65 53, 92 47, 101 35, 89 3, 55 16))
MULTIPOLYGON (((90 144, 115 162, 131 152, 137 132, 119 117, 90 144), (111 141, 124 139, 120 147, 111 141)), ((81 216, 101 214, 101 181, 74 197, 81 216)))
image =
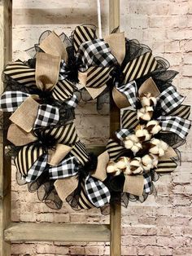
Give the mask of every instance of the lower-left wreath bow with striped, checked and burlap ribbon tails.
MULTIPOLYGON (((73 123, 41 130, 35 135, 18 130, 20 127, 13 124, 9 132, 19 135, 20 141, 28 140, 15 157, 15 166, 27 182, 36 180, 45 170, 49 170, 50 179, 76 175, 79 165, 89 160, 73 123)), ((18 146, 16 139, 14 143, 18 146)))

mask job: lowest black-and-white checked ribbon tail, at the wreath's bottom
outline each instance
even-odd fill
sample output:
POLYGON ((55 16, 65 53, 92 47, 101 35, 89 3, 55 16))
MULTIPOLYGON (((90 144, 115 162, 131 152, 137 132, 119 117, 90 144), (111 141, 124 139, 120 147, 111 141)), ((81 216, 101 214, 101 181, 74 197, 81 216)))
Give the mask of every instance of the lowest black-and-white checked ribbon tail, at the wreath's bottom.
POLYGON ((88 175, 85 179, 85 190, 89 201, 95 207, 102 207, 110 202, 111 195, 108 188, 98 179, 94 179, 88 175))

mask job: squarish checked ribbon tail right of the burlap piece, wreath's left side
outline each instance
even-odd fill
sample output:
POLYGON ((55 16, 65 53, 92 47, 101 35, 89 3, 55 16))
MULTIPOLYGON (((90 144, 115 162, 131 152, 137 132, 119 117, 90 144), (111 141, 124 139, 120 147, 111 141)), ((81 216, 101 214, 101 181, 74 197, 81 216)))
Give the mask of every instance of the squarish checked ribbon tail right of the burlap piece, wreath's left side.
POLYGON ((59 122, 59 108, 48 104, 41 104, 37 111, 37 117, 34 122, 33 129, 39 129, 59 122))

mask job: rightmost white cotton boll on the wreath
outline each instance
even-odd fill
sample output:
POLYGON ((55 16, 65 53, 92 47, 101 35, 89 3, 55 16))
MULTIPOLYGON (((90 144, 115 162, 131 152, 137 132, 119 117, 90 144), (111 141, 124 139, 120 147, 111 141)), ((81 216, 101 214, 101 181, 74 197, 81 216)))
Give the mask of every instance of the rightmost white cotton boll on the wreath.
POLYGON ((168 149, 168 144, 161 139, 151 139, 149 152, 158 157, 163 157, 166 150, 168 149))

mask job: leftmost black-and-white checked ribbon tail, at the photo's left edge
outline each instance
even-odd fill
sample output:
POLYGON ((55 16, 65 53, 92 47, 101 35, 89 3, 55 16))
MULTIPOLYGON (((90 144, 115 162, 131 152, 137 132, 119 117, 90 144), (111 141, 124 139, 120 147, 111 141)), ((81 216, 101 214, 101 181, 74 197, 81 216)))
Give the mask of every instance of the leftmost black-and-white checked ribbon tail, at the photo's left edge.
POLYGON ((7 90, 1 96, 0 110, 2 110, 2 112, 14 112, 29 96, 30 95, 27 93, 19 90, 7 90))

